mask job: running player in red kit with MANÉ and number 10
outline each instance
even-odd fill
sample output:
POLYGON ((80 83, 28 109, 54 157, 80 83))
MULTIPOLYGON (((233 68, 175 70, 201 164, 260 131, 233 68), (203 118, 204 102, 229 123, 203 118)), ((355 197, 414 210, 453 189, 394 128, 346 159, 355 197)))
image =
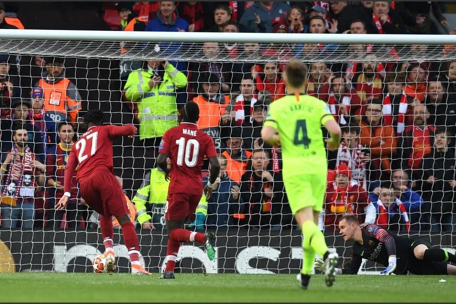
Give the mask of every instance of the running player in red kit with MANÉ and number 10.
MULTIPOLYGON (((220 164, 217 160, 215 145, 211 137, 196 127, 199 119, 199 108, 194 102, 188 102, 182 109, 180 126, 166 131, 159 147, 158 165, 171 178, 168 198, 165 206, 168 247, 166 249, 166 269, 160 278, 174 279, 181 242, 199 242, 204 244, 210 260, 215 258, 215 235, 191 232, 184 229, 185 220, 194 213, 203 193, 201 167, 203 159, 209 158, 211 175, 206 196, 212 195, 212 185, 218 177, 220 164), (171 160, 168 170, 166 159, 171 160)), ((169 176, 169 177, 168 177, 169 176)))

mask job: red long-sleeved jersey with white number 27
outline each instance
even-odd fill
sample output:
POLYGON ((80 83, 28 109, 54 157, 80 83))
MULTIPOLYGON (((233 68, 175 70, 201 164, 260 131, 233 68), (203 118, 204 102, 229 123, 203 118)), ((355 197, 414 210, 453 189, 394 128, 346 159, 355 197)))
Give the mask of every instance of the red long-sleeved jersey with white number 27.
POLYGON ((113 172, 113 140, 116 136, 133 135, 136 127, 93 126, 73 144, 65 170, 65 192, 71 189, 70 180, 76 166, 79 166, 76 179, 83 180, 94 176, 98 171, 113 172))

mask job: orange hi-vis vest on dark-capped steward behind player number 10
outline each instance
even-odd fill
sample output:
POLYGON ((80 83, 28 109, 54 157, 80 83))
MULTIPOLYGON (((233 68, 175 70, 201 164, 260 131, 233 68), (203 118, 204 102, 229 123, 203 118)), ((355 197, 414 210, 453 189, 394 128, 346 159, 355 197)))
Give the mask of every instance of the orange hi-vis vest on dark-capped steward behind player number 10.
POLYGON ((196 122, 199 129, 203 130, 211 127, 218 127, 220 118, 229 103, 229 97, 226 95, 223 97, 225 98, 223 104, 208 101, 203 95, 198 95, 193 98, 193 102, 199 107, 199 120, 196 122))

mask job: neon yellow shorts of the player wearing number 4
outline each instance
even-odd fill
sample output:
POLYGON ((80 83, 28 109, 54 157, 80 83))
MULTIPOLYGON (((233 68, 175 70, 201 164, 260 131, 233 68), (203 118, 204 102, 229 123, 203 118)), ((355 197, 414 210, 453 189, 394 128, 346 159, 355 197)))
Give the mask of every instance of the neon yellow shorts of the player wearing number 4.
POLYGON ((302 208, 323 209, 327 174, 309 174, 284 177, 285 191, 293 215, 302 208))

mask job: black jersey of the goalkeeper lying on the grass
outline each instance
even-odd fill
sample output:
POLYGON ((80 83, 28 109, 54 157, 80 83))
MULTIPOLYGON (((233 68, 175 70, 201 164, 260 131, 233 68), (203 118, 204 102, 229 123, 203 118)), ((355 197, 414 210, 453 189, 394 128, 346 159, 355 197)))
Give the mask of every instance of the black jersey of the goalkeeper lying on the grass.
POLYGON ((352 261, 342 269, 344 274, 356 274, 362 259, 368 259, 388 266, 388 257, 396 255, 395 274, 406 274, 410 252, 410 239, 393 235, 378 225, 370 224, 361 228, 363 244, 353 245, 352 261))

